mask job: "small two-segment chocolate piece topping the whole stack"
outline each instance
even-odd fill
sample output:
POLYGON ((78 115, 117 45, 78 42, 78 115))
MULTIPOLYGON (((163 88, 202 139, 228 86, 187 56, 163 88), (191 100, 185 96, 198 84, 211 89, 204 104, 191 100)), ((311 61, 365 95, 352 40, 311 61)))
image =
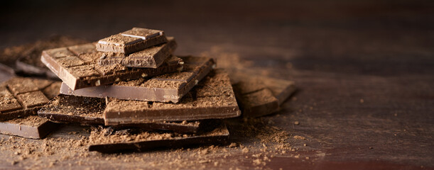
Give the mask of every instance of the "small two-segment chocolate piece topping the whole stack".
POLYGON ((167 40, 162 30, 132 28, 99 40, 96 47, 100 52, 118 52, 128 55, 164 42, 167 40))

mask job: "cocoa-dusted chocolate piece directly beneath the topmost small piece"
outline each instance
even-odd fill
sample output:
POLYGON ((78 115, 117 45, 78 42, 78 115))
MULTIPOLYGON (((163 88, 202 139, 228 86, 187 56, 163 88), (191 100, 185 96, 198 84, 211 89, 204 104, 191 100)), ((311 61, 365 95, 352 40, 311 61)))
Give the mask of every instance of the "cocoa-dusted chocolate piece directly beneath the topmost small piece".
POLYGON ((170 57, 170 54, 175 51, 176 47, 175 38, 168 37, 167 43, 148 47, 145 50, 134 52, 130 55, 114 52, 103 53, 102 57, 98 60, 98 64, 102 66, 121 64, 125 67, 155 69, 170 57))

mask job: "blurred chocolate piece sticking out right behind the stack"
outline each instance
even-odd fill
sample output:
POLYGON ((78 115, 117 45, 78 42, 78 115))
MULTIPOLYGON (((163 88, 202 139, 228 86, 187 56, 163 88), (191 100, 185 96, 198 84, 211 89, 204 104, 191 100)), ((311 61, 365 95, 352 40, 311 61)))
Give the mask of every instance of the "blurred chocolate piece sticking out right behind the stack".
POLYGON ((293 81, 235 74, 237 101, 244 117, 259 117, 278 111, 279 106, 295 91, 293 81))

